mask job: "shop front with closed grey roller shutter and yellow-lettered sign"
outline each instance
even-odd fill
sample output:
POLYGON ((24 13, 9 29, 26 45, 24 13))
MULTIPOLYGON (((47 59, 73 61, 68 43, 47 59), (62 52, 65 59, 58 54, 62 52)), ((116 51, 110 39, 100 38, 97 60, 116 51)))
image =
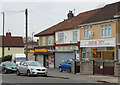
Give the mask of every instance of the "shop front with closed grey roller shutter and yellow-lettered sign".
POLYGON ((60 62, 66 58, 79 59, 79 49, 77 45, 55 47, 55 68, 58 68, 60 62))

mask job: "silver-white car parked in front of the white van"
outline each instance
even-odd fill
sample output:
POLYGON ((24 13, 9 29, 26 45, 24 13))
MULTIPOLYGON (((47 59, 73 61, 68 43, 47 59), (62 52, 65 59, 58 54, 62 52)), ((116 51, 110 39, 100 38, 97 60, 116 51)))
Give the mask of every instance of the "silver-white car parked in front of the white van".
POLYGON ((43 67, 37 61, 25 61, 21 62, 17 67, 17 75, 27 74, 27 76, 31 75, 43 75, 47 76, 47 68, 43 67))

